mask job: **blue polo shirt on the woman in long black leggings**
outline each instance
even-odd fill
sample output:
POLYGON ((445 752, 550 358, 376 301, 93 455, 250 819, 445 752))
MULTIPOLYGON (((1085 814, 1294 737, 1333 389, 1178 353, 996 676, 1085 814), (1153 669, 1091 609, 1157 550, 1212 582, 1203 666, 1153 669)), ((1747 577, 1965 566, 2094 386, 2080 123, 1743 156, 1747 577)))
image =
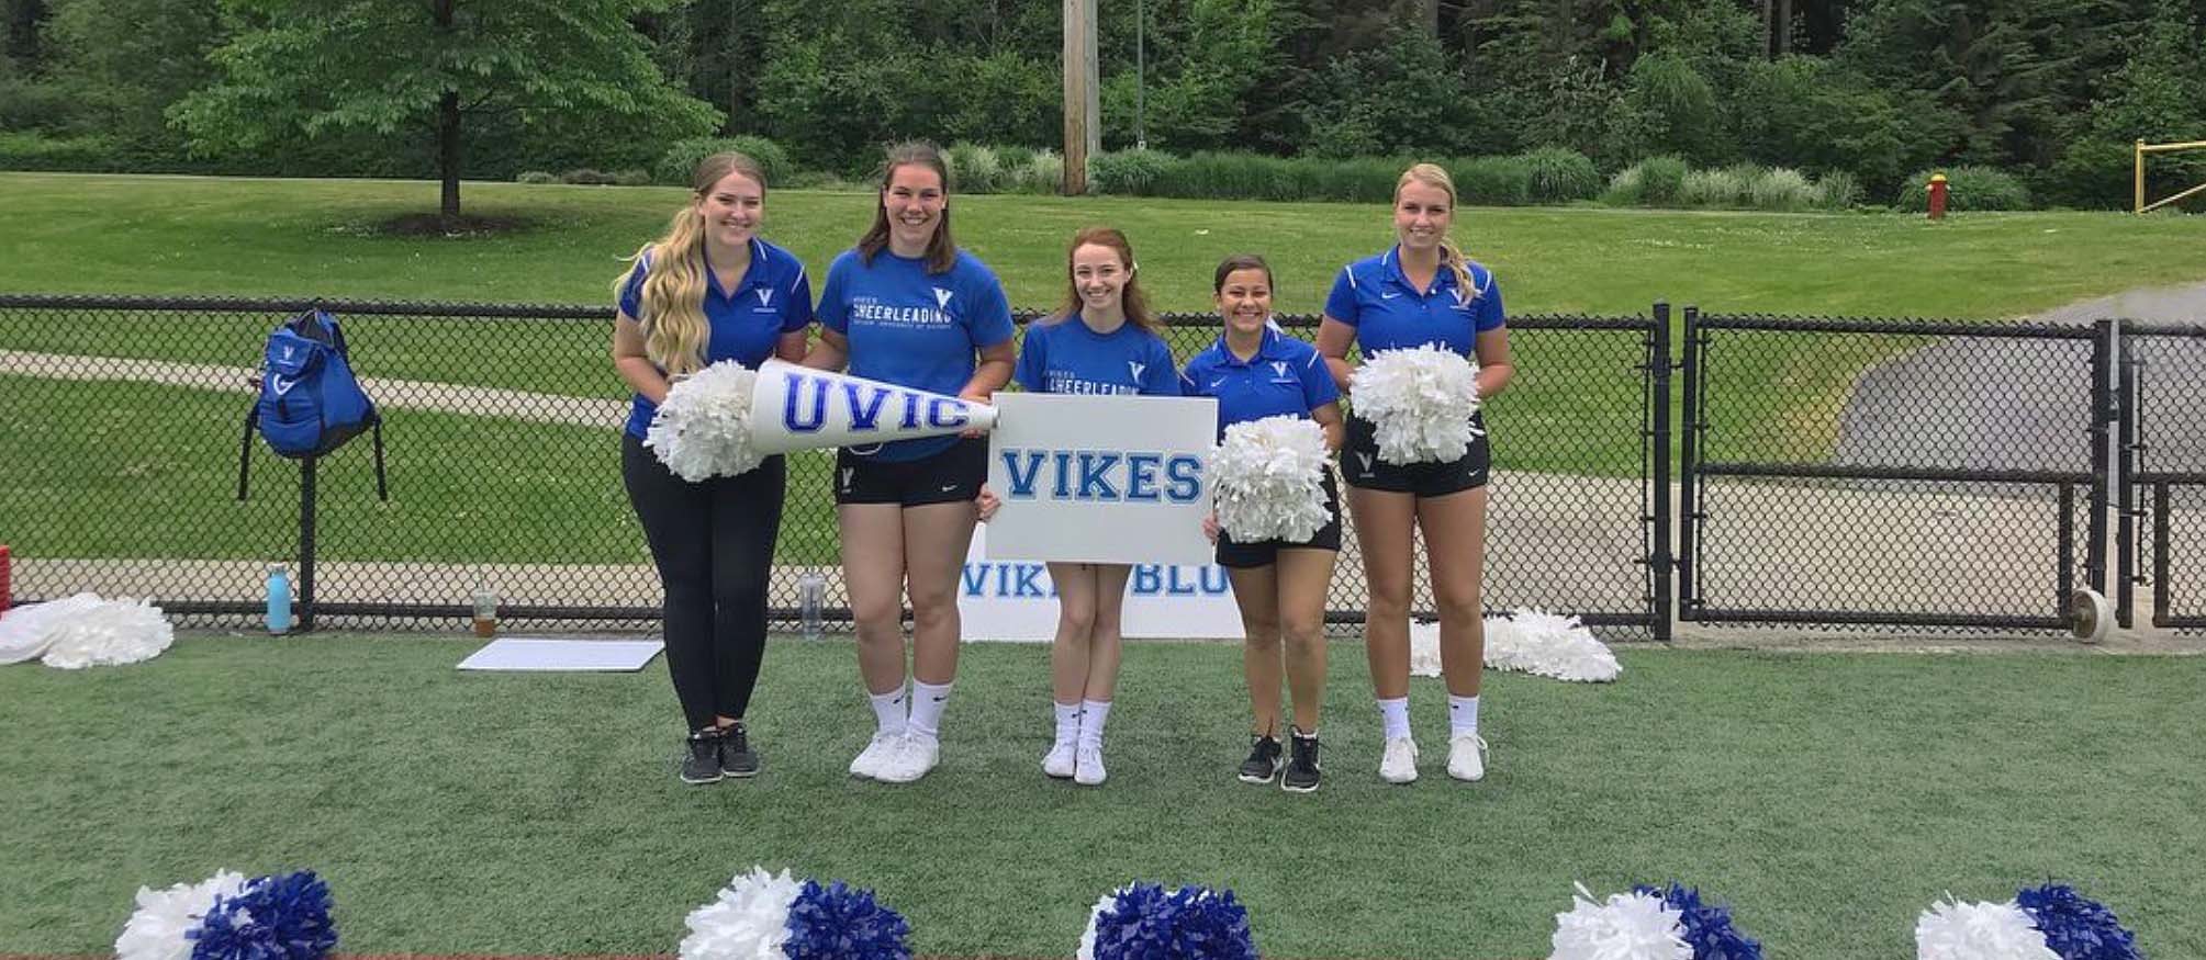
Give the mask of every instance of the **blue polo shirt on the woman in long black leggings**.
MULTIPOLYGON (((620 284, 620 313, 631 319, 642 319, 644 275, 649 273, 651 258, 646 255, 620 284)), ((765 363, 783 332, 803 330, 812 321, 812 280, 805 277, 805 264, 781 247, 750 238, 750 269, 743 271, 735 291, 721 291, 719 282, 710 273, 706 275, 704 319, 710 326, 704 346, 708 366, 726 359, 746 368, 765 363)), ((635 394, 635 403, 629 405, 629 434, 642 440, 657 410, 657 403, 635 394)))

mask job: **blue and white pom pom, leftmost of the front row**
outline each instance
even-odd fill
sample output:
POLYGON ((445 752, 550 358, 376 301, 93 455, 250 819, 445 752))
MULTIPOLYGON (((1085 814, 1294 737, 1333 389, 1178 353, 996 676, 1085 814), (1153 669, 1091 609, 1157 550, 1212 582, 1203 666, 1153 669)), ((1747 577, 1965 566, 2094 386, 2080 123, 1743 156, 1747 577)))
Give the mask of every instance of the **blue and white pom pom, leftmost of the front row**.
POLYGON ((329 885, 311 870, 285 876, 218 872, 168 890, 139 887, 115 940, 117 960, 322 960, 338 947, 329 885))

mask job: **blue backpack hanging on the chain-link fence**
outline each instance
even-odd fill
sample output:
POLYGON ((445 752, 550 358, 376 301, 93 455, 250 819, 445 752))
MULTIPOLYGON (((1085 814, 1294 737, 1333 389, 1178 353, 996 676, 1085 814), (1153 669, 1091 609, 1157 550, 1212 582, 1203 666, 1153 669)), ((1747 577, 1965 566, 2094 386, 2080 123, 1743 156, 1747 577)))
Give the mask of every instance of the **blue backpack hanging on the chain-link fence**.
POLYGON ((260 357, 260 399, 245 414, 238 445, 238 500, 245 500, 247 460, 254 432, 269 449, 291 460, 313 460, 364 432, 375 432, 375 493, 390 500, 384 484, 384 418, 360 390, 338 317, 313 308, 269 332, 260 357))

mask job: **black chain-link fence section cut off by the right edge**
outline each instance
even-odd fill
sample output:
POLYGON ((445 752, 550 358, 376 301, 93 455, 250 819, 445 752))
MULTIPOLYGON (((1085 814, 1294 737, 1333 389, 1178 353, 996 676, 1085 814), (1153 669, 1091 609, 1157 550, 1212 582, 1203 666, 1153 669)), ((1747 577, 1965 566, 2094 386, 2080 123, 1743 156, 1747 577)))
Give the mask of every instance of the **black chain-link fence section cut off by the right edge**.
POLYGON ((2206 628, 2206 326, 2122 321, 2118 339, 2116 612, 2131 625, 2135 586, 2149 581, 2155 628, 2206 628))

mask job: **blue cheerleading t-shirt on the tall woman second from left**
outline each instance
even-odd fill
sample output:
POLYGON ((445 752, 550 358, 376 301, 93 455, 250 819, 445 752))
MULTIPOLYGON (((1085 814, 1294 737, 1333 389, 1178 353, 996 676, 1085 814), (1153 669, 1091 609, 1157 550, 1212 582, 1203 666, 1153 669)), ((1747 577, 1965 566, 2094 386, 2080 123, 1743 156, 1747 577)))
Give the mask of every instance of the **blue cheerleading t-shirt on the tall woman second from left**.
MULTIPOLYGON (((871 264, 858 251, 843 251, 821 284, 818 317, 821 326, 849 337, 852 377, 946 396, 957 396, 973 379, 975 350, 1015 332, 1004 284, 966 251, 957 251, 944 273, 927 273, 927 260, 887 249, 871 264)), ((922 436, 852 447, 852 454, 918 460, 955 443, 955 436, 922 436)))

